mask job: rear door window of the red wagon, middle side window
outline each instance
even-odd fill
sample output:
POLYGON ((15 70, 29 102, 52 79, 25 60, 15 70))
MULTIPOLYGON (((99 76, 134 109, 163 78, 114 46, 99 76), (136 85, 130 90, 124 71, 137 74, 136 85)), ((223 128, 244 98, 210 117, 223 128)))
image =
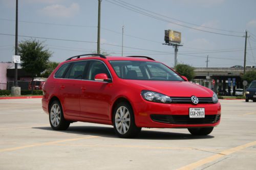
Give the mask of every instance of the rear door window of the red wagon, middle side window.
POLYGON ((68 79, 82 79, 83 72, 86 68, 87 61, 74 62, 65 78, 68 79))

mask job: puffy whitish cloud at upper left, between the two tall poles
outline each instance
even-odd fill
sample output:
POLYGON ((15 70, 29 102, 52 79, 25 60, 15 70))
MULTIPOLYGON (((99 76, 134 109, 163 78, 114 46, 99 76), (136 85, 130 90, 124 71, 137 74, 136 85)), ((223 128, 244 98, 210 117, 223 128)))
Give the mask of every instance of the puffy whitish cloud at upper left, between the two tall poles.
MULTIPOLYGON (((39 1, 39 0, 37 0, 39 1)), ((80 7, 77 3, 71 4, 70 7, 65 7, 63 5, 54 4, 49 5, 41 10, 39 13, 42 15, 50 16, 50 17, 73 17, 76 15, 80 10, 80 7)))

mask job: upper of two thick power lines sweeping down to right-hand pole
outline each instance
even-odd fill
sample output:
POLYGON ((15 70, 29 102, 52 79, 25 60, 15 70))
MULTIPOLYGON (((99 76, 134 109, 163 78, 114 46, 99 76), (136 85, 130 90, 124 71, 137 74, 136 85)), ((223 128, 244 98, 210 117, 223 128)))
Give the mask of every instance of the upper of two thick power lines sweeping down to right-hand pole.
MULTIPOLYGON (((114 0, 114 1, 115 1, 115 0, 114 0)), ((187 24, 189 24, 189 25, 198 26, 198 27, 203 27, 203 28, 212 29, 212 30, 225 31, 225 32, 243 33, 243 32, 238 32, 238 31, 222 30, 222 29, 217 29, 217 28, 211 28, 211 27, 196 25, 195 23, 186 22, 186 21, 182 21, 182 20, 179 20, 179 19, 176 19, 176 18, 168 17, 168 16, 165 16, 165 15, 162 15, 162 14, 159 14, 159 13, 156 13, 156 12, 152 12, 152 11, 150 11, 150 10, 146 10, 146 9, 144 9, 144 8, 140 8, 140 7, 138 7, 138 6, 135 6, 135 5, 126 3, 126 2, 121 1, 121 0, 119 0, 119 1, 122 2, 122 3, 124 3, 124 4, 133 6, 133 7, 135 7, 135 8, 138 8, 138 9, 141 9, 141 10, 144 10, 144 11, 147 11, 147 12, 150 12, 150 13, 153 13, 153 14, 156 14, 156 15, 159 15, 159 16, 162 16, 162 17, 165 17, 165 18, 169 18, 169 19, 173 19, 173 20, 176 20, 176 21, 179 21, 179 22, 187 23, 187 24)), ((117 1, 115 1, 115 2, 117 2, 117 1)), ((117 3, 119 3, 119 2, 117 2, 117 3)))

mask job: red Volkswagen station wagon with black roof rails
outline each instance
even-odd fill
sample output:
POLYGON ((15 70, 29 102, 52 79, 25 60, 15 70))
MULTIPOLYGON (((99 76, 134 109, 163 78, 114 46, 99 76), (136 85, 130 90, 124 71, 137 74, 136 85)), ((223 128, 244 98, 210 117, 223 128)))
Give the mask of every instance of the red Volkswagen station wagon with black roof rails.
POLYGON ((213 91, 144 56, 71 57, 52 72, 43 91, 42 109, 54 130, 79 121, 113 125, 126 138, 141 128, 187 128, 192 135, 208 135, 221 119, 213 91))

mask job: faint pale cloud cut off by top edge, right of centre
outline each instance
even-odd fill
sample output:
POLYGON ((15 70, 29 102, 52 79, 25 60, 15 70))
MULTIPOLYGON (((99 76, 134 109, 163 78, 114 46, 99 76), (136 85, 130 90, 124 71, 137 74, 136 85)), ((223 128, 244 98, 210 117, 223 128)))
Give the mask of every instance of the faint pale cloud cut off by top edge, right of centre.
POLYGON ((179 2, 184 5, 195 5, 195 6, 205 6, 210 7, 214 5, 222 4, 225 0, 180 0, 179 2))

